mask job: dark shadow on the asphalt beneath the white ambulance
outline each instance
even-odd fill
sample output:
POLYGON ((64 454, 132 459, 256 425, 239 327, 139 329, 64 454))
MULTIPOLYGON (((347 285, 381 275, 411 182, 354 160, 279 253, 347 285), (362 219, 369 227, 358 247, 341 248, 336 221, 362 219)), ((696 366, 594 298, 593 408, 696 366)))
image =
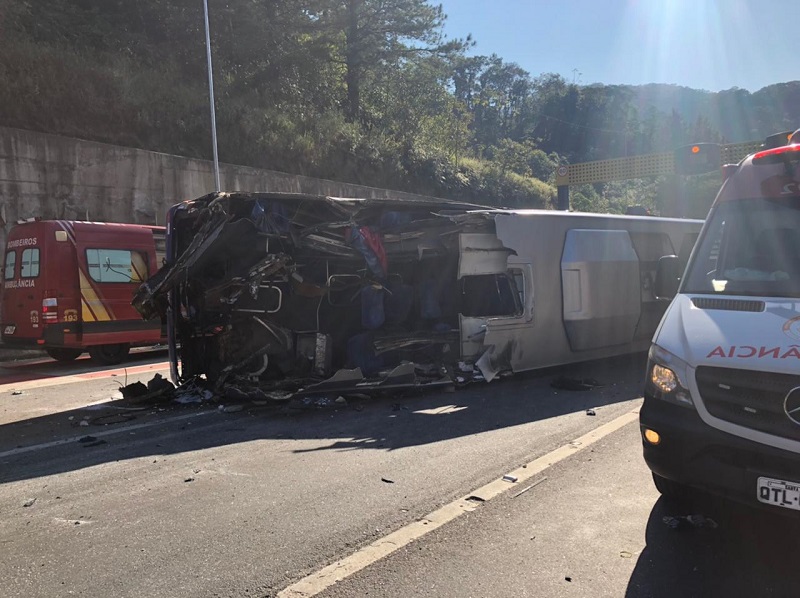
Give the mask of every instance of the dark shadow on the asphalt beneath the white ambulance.
POLYGON ((662 497, 647 522, 646 547, 627 598, 800 596, 800 519, 711 496, 690 507, 662 497), (664 517, 701 514, 717 527, 673 529, 664 517))

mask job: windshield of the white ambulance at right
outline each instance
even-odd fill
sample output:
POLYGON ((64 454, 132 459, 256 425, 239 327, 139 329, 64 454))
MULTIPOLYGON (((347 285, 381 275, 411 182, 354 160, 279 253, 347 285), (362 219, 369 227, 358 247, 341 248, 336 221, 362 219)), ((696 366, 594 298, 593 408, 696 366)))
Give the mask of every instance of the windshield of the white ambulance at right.
POLYGON ((800 297, 800 198, 726 201, 709 218, 682 292, 800 297))

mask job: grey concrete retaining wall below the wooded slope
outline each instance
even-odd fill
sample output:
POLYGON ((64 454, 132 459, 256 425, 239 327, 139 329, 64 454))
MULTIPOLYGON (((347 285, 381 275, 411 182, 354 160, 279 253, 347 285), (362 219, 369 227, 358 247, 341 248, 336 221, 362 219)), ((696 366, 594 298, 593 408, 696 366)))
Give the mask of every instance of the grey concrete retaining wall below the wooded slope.
MULTIPOLYGON (((419 197, 231 164, 220 164, 220 186, 223 191, 419 197)), ((213 190, 208 160, 0 127, 2 246, 19 219, 164 224, 170 206, 213 190)))

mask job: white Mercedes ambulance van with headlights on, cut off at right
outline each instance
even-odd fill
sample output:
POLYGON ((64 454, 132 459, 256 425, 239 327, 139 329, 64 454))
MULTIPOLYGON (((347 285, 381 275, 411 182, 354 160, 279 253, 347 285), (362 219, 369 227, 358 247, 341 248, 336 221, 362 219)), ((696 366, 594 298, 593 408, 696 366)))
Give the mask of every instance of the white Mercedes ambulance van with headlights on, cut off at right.
MULTIPOLYGON (((640 424, 658 490, 800 515, 800 133, 723 167, 656 330, 640 424), (676 292, 677 290, 677 292, 676 292)), ((674 285, 671 286, 671 283, 674 285)))

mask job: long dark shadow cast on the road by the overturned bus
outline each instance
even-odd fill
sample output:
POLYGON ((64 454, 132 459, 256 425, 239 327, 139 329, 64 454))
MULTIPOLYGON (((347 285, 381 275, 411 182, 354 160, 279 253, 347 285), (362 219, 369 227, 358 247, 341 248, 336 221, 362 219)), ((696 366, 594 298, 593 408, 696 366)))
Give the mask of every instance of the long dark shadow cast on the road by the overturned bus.
POLYGON ((135 403, 111 401, 93 405, 88 414, 84 408, 0 425, 0 483, 253 440, 330 438, 330 443, 312 450, 392 451, 569 413, 589 418, 591 413, 602 415, 606 405, 641 396, 645 363, 645 355, 626 356, 474 383, 454 392, 346 395, 345 402, 332 396, 323 402, 244 404, 240 411, 230 413, 218 410, 213 401, 190 406, 155 403, 139 410, 135 403), (595 379, 602 386, 586 391, 551 386, 553 380, 563 378, 595 379), (192 418, 193 412, 204 416, 192 418), (87 415, 89 425, 77 427, 87 415), (141 429, 130 434, 134 426, 141 429), (34 434, 35 430, 39 433, 34 434), (104 442, 79 443, 78 436, 95 436, 104 442), (53 446, 34 448, 41 443, 53 446))

